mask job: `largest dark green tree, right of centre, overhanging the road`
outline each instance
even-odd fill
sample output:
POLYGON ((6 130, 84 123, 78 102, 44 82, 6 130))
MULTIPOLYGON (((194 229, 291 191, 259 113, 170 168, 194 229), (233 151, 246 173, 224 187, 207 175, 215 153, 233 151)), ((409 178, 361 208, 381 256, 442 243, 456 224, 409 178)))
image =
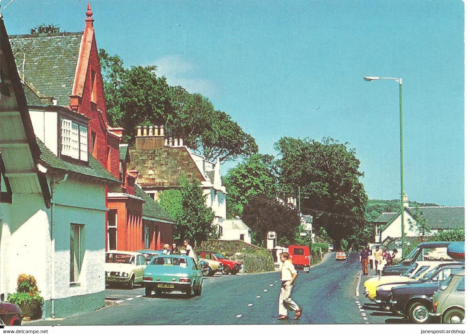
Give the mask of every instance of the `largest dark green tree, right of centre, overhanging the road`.
POLYGON ((298 197, 301 187, 302 212, 313 214, 314 224, 322 226, 335 245, 365 226, 367 195, 359 181, 363 173, 355 150, 347 144, 331 138, 319 142, 291 137, 275 144, 281 155, 283 191, 298 197))

